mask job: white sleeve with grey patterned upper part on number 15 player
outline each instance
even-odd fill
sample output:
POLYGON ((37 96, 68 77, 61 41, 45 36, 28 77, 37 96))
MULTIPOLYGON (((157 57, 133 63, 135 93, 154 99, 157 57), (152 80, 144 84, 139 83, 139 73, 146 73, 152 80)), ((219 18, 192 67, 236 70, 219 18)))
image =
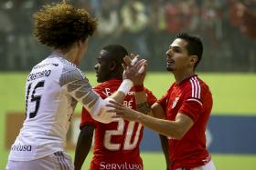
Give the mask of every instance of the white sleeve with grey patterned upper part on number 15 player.
POLYGON ((93 119, 105 124, 112 122, 114 114, 106 112, 109 98, 103 100, 100 95, 96 94, 89 80, 78 68, 63 72, 59 85, 66 88, 69 95, 80 102, 90 112, 93 119))

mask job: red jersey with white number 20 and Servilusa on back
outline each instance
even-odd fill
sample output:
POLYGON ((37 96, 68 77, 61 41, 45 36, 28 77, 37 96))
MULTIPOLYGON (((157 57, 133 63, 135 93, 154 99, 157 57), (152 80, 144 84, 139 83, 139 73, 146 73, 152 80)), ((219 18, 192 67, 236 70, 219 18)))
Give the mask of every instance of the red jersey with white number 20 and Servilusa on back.
MULTIPOLYGON (((96 93, 106 98, 112 95, 121 85, 122 80, 112 79, 94 87, 96 93)), ((150 105, 156 101, 155 95, 145 89, 150 105)), ((123 105, 136 109, 135 93, 133 89, 125 96, 123 105)), ((102 124, 91 118, 83 108, 81 114, 82 125, 94 125, 95 145, 91 170, 100 169, 143 169, 139 145, 143 136, 143 125, 129 122, 122 118, 115 118, 110 124, 102 124)))

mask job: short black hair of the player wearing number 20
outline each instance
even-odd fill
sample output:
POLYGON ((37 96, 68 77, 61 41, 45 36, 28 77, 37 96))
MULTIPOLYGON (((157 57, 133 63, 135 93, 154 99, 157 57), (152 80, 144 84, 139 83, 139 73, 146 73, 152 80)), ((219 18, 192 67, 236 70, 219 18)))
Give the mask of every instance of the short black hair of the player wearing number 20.
POLYGON ((106 50, 118 65, 122 65, 124 56, 128 55, 127 50, 122 45, 106 45, 102 49, 106 50))

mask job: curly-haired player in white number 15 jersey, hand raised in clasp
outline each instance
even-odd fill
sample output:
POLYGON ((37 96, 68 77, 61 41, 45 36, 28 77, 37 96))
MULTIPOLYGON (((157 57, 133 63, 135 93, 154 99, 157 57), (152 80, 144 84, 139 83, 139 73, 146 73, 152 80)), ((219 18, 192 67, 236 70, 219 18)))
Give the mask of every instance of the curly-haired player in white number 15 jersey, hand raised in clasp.
MULTIPOLYGON (((8 157, 8 170, 69 170, 72 161, 64 151, 75 106, 80 102, 91 116, 110 123, 108 100, 123 102, 133 78, 145 60, 129 65, 118 91, 101 99, 77 65, 87 50, 96 21, 83 9, 60 3, 45 5, 35 15, 34 35, 53 53, 32 68, 26 84, 26 119, 8 157)), ((128 63, 131 62, 129 59, 128 63)))

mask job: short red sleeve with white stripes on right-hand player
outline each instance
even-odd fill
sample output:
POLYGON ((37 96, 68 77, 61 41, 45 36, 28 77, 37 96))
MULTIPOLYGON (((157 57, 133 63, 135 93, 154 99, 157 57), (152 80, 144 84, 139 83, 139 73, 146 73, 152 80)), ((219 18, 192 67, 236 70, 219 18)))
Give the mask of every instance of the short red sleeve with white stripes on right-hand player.
MULTIPOLYGON (((200 87, 198 86, 197 89, 199 88, 200 87)), ((183 104, 181 105, 178 113, 188 115, 190 118, 193 119, 194 122, 196 122, 203 108, 203 104, 201 101, 203 94, 204 93, 202 93, 201 88, 200 91, 198 90, 197 94, 195 94, 195 90, 193 91, 193 86, 187 86, 184 94, 183 104)))

